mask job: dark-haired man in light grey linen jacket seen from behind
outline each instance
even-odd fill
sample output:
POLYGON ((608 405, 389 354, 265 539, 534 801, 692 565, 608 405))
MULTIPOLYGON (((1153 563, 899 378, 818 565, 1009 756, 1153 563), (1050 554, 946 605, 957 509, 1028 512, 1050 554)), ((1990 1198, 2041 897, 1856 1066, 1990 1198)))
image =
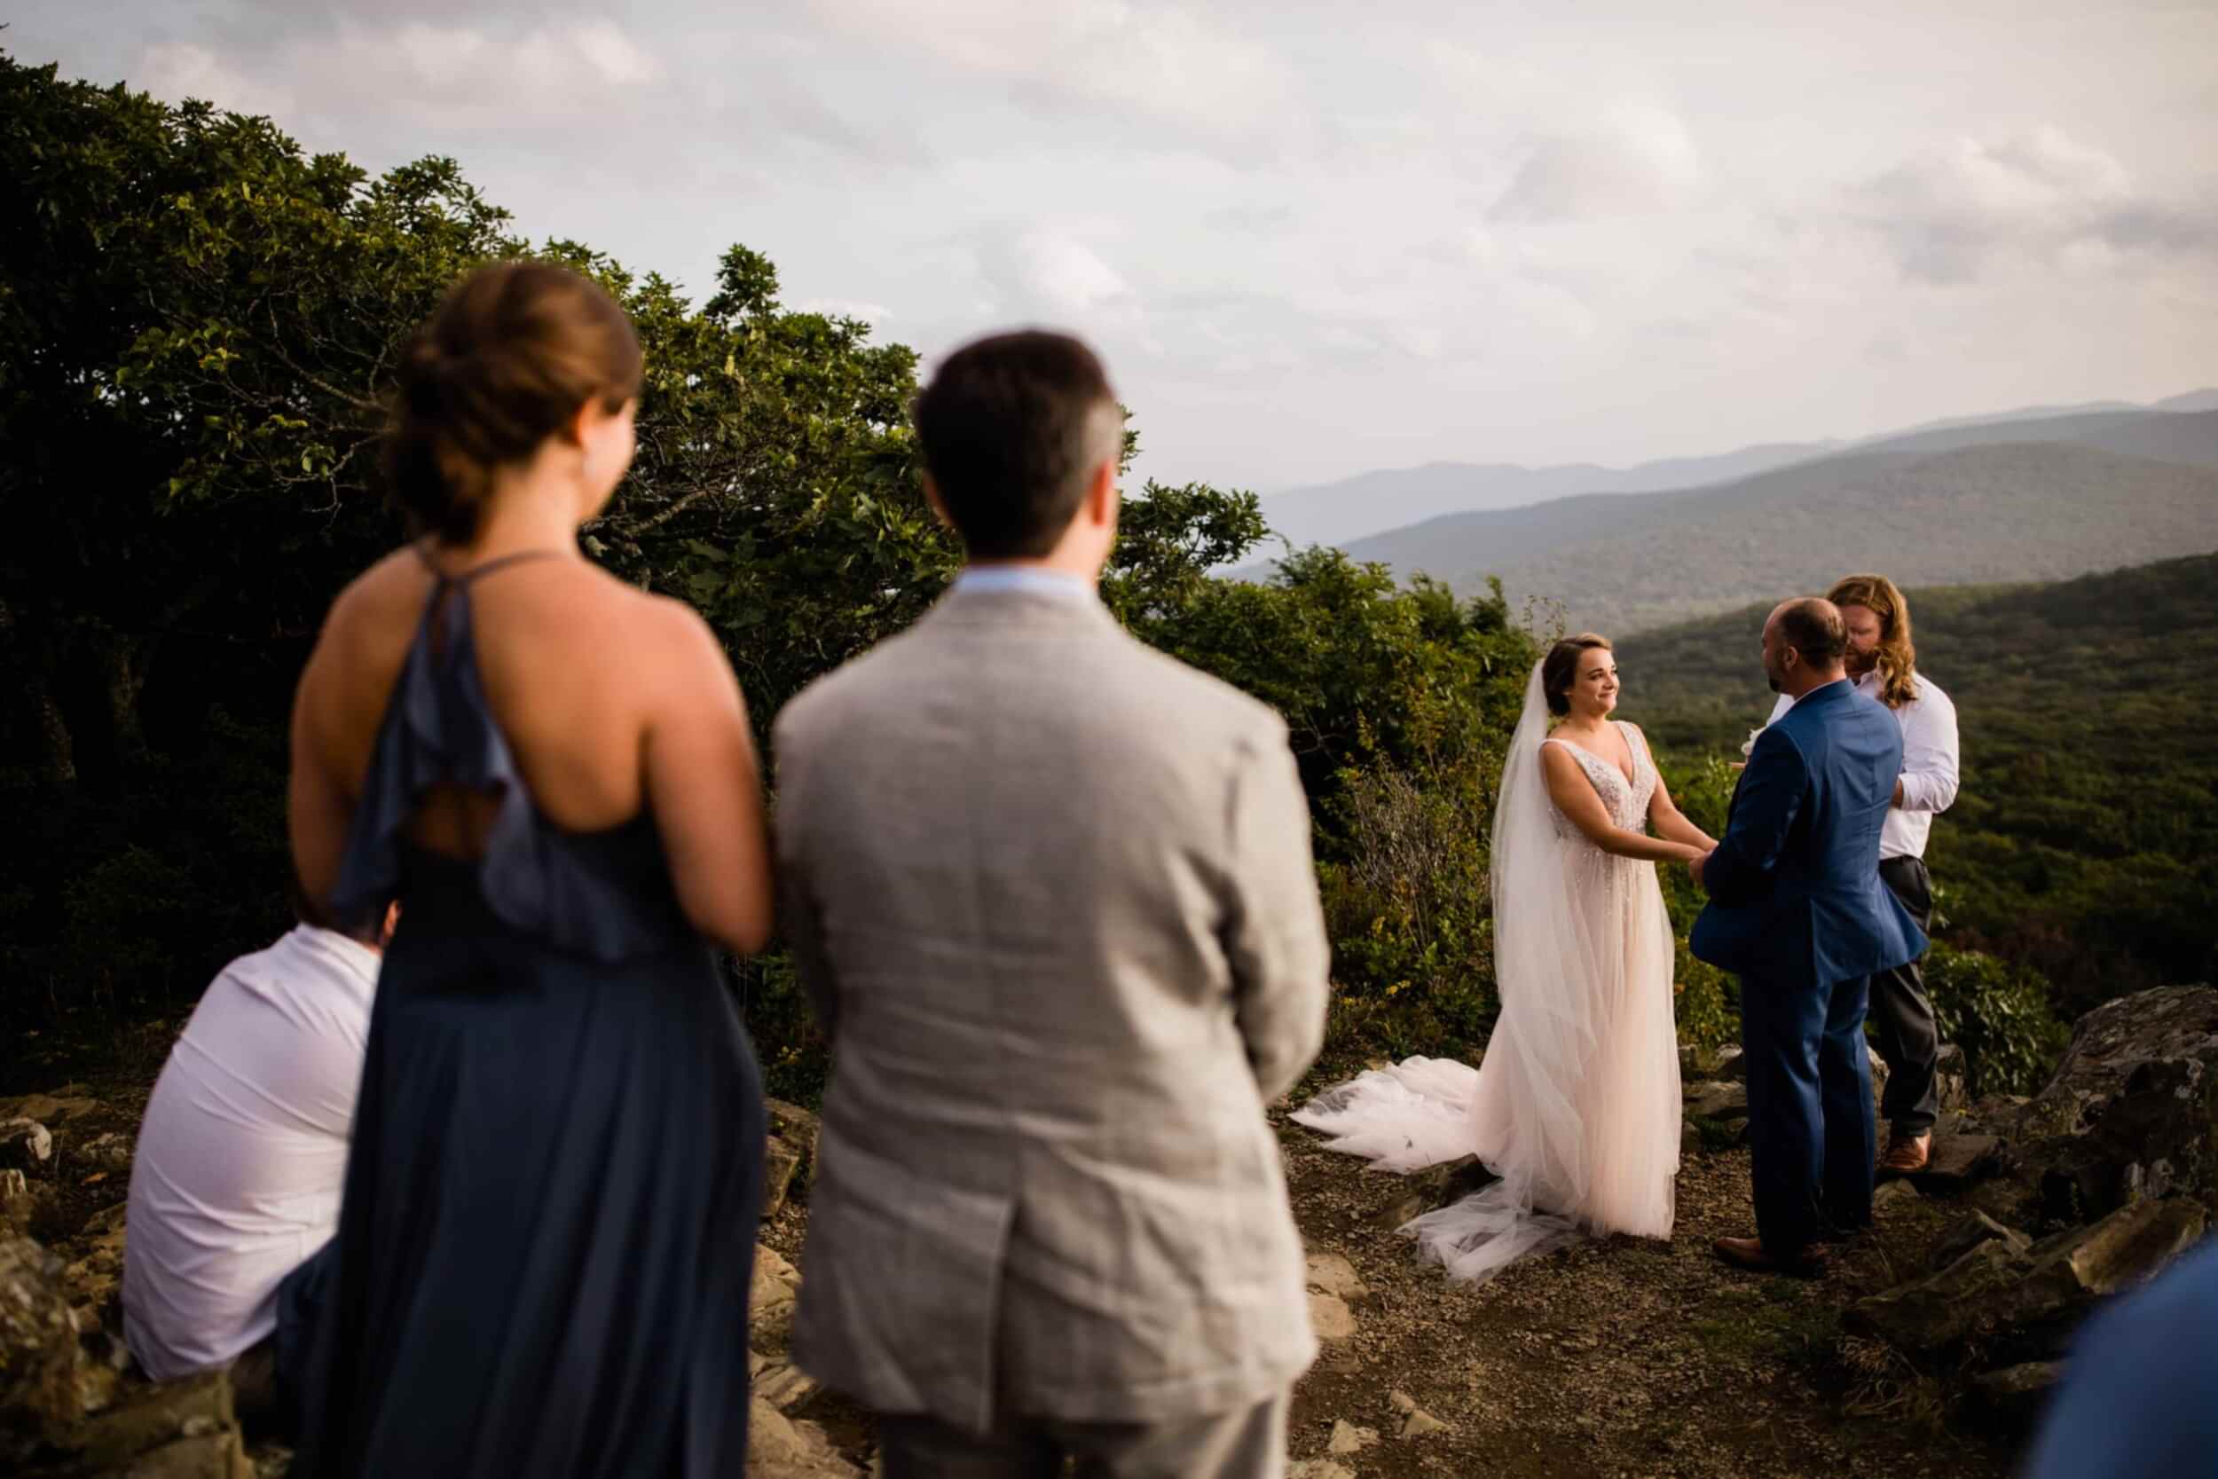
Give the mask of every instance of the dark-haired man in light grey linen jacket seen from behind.
POLYGON ((1076 339, 916 404, 969 565, 779 716, 834 1040, 794 1357, 909 1475, 1271 1477, 1315 1357, 1266 1100, 1324 1031, 1286 725, 1109 616, 1122 415, 1076 339))

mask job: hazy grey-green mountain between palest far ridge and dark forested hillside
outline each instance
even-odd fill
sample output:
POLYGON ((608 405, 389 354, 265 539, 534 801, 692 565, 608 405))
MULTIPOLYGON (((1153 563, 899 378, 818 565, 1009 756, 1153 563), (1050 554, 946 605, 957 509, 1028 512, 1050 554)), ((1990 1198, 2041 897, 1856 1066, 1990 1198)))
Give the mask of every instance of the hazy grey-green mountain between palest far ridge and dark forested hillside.
POLYGON ((1499 577, 1513 605, 1553 608, 1542 625, 1612 634, 1821 590, 1850 565, 1916 585, 2072 579, 2218 550, 2218 392, 1932 424, 1708 486, 1455 512, 1342 548, 1466 592, 1499 577))

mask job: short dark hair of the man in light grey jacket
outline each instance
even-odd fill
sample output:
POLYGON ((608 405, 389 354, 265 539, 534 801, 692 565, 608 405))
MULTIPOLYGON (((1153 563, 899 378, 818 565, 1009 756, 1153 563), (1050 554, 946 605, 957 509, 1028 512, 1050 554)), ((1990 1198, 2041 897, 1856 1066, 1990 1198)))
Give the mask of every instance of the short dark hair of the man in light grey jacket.
POLYGON ((1120 430, 1102 361, 1042 330, 958 348, 916 397, 925 466, 974 559, 1054 550, 1120 430))

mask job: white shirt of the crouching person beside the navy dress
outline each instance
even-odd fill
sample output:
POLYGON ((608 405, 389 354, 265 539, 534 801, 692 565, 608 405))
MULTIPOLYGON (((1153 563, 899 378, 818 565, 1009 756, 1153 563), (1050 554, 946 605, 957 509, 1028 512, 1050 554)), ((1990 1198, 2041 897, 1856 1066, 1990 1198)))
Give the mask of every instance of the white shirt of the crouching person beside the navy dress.
POLYGON ((339 1228, 375 949, 299 925, 208 985, 131 1162, 124 1342, 155 1381, 277 1328, 277 1284, 339 1228))

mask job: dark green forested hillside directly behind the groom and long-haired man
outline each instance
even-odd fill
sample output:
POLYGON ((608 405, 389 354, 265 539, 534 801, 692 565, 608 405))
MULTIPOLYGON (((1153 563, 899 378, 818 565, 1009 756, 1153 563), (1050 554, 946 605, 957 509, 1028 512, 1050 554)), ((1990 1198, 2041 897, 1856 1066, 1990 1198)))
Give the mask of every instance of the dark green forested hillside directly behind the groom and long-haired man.
MULTIPOLYGON (((1930 854, 1941 936, 2041 969, 2067 1016, 2218 978, 2218 557, 1910 605, 1963 721, 1930 854)), ((1772 705, 1766 610, 1626 639, 1626 714, 1681 756, 1737 752, 1772 705)))

